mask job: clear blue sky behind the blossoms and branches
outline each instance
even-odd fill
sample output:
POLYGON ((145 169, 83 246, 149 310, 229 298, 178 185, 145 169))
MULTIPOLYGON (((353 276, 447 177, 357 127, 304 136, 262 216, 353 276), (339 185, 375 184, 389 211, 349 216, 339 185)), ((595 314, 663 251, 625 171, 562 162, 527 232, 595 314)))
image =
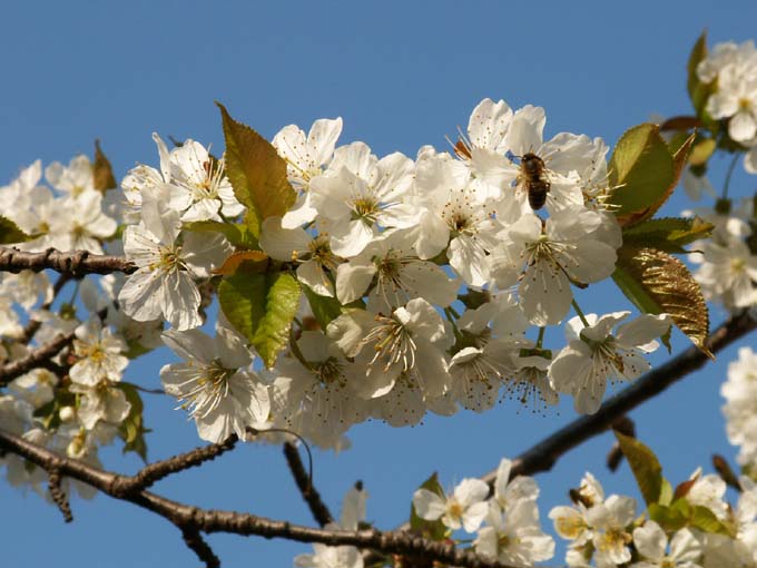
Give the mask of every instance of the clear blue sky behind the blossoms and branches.
MULTIPOLYGON (((136 163, 157 163, 150 134, 191 137, 223 148, 217 109, 272 137, 287 124, 309 127, 342 116, 342 140, 364 140, 376 154, 414 156, 423 144, 444 147, 484 97, 547 109, 547 135, 569 130, 613 144, 650 114, 689 110, 685 65, 704 28, 710 41, 749 39, 754 1, 721 2, 7 2, 0 23, 0 185, 41 158, 68 161, 91 154, 100 138, 117 177, 136 163), (533 4, 537 6, 537 4, 533 4)), ((714 165, 712 182, 725 164, 714 165)), ((755 178, 740 172, 731 194, 747 195, 755 178)), ((667 214, 685 205, 676 196, 667 214)), ((592 287, 584 310, 628 303, 611 286, 592 287), (598 292, 596 292, 598 291, 598 292), (597 302, 591 305, 591 301, 597 302)), ((721 313, 714 313, 716 322, 721 313)), ((674 347, 686 346, 680 335, 674 347)), ((134 364, 127 380, 157 386, 168 356, 134 364)), ((735 350, 632 413, 638 433, 679 481, 729 458, 719 385, 735 350)), ((658 354, 657 361, 665 354, 658 354)), ((153 459, 199 443, 174 403, 147 400, 153 459)), ((545 417, 505 402, 485 414, 430 418, 392 429, 373 422, 351 432, 353 449, 315 452, 315 481, 334 511, 363 480, 368 519, 391 528, 406 519, 413 490, 433 471, 445 486, 494 468, 574 419, 569 402, 545 417)), ((604 434, 539 476, 542 515, 567 500, 586 470, 608 492, 632 492, 627 468, 611 474, 604 434)), ((134 457, 104 452, 109 469, 132 472, 134 457)), ((312 523, 278 448, 245 445, 156 487, 168 497, 214 508, 312 523)), ((98 496, 75 499, 75 522, 38 497, 0 483, 0 550, 4 566, 194 566, 179 532, 136 507, 98 496)), ((213 536, 226 567, 291 566, 309 547, 256 538, 213 536)), ((557 558, 552 564, 560 564, 557 558)))

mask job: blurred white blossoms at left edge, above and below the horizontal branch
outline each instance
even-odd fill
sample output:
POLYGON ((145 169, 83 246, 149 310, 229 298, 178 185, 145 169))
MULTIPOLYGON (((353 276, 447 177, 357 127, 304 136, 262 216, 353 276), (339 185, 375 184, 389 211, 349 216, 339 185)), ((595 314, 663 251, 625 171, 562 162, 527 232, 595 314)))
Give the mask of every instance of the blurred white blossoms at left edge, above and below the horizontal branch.
MULTIPOLYGON (((0 188, 0 214, 30 238, 18 248, 41 252, 87 251, 101 254, 116 245, 118 226, 115 192, 96 187, 95 168, 86 156, 68 166, 50 164, 42 184, 38 160, 10 185, 0 188)), ((65 277, 61 277, 65 283, 65 277)), ((3 274, 0 282, 0 361, 20 360, 61 334, 72 334, 68 350, 43 368, 32 369, 9 383, 0 396, 0 422, 9 431, 69 457, 99 464, 98 448, 111 443, 131 413, 134 386, 124 383, 127 353, 150 349, 160 322, 149 326, 127 317, 115 302, 117 280, 106 276, 104 292, 91 278, 73 286, 71 301, 52 311, 56 292, 46 274, 22 271, 3 274), (79 297, 81 302, 75 302, 79 297), (22 325, 22 322, 26 324, 22 325)), ((135 432, 136 434, 137 432, 135 432)), ((47 476, 23 460, 7 456, 9 481, 47 496, 47 476)), ((65 487, 68 487, 67 480, 65 487)), ((75 483, 86 497, 94 490, 75 483)))

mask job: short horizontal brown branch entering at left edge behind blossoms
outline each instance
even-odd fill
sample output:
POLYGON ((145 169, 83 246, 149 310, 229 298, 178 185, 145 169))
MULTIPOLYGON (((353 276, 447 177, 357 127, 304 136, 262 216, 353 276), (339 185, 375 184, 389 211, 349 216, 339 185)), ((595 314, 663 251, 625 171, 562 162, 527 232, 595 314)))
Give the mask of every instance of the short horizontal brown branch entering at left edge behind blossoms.
POLYGON ((55 248, 48 248, 42 253, 27 253, 13 247, 0 247, 0 272, 41 272, 47 268, 73 277, 111 272, 131 274, 137 270, 122 256, 97 255, 88 251, 61 253, 55 248))

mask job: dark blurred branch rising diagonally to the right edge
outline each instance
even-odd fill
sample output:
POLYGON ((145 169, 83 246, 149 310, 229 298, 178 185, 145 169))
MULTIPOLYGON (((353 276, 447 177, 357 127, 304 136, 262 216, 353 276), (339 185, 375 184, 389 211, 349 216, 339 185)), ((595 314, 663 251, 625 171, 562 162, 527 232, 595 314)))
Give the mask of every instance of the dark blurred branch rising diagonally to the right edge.
MULTIPOLYGON (((749 317, 746 312, 734 315, 710 334, 707 345, 712 353, 717 353, 756 327, 757 322, 749 317)), ((590 438, 601 434, 620 417, 656 396, 687 374, 704 366, 708 361, 709 358, 699 349, 695 346, 687 349, 609 399, 596 414, 574 420, 521 453, 513 461, 510 477, 549 471, 563 453, 590 438)), ((492 484, 495 478, 497 470, 490 471, 482 479, 492 484)))

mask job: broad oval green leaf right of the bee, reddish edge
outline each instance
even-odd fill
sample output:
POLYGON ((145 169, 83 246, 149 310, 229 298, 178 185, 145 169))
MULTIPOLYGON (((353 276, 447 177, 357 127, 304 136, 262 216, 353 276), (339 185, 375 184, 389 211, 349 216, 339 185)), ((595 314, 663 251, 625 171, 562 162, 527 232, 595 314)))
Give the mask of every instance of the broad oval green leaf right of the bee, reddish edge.
POLYGON ((617 187, 609 203, 617 207, 620 218, 646 212, 675 180, 672 157, 658 125, 642 124, 627 130, 616 145, 609 167, 610 185, 617 187))

